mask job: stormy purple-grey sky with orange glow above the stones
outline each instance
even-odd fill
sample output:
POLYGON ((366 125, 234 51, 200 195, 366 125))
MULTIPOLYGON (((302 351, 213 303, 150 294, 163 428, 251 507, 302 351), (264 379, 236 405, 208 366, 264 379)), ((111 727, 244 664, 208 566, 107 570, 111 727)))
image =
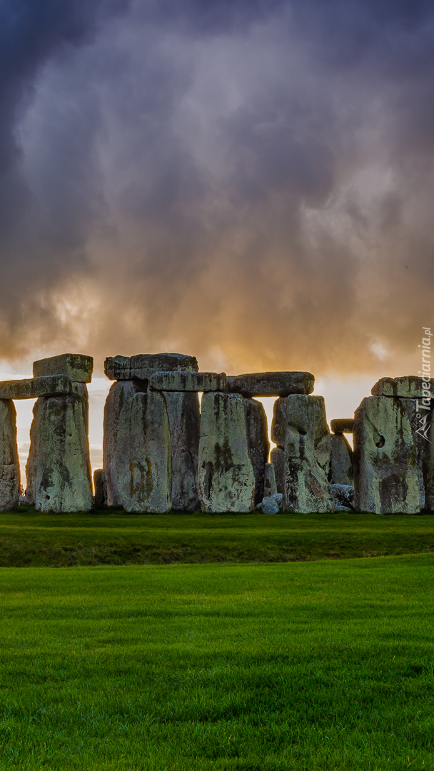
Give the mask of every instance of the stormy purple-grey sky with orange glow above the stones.
POLYGON ((433 35, 422 0, 0 0, 0 374, 86 353, 103 403, 107 355, 182 352, 339 417, 417 373, 433 35))

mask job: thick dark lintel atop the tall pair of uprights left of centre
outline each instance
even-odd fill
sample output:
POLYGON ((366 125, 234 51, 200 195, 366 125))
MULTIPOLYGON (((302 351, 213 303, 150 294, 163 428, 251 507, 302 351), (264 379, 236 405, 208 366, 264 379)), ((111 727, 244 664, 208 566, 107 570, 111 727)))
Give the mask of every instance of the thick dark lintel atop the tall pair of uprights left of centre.
POLYGON ((136 356, 109 356, 104 372, 109 380, 148 380, 153 372, 197 372, 195 356, 182 353, 141 353, 136 356))

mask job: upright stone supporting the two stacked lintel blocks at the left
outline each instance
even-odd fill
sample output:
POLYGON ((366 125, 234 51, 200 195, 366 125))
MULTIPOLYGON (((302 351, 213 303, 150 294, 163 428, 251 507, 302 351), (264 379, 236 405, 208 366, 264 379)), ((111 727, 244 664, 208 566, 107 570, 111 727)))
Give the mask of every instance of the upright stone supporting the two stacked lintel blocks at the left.
POLYGON ((69 396, 40 397, 33 409, 26 497, 37 511, 89 511, 93 504, 84 383, 69 396))

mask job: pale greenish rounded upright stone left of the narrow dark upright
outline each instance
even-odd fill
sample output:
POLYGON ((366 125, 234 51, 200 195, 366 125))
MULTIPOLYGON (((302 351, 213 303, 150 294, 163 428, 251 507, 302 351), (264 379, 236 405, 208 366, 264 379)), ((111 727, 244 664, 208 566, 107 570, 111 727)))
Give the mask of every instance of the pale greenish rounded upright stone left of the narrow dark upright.
POLYGON ((170 511, 170 429, 163 394, 138 392, 123 402, 115 462, 119 500, 126 511, 170 511))

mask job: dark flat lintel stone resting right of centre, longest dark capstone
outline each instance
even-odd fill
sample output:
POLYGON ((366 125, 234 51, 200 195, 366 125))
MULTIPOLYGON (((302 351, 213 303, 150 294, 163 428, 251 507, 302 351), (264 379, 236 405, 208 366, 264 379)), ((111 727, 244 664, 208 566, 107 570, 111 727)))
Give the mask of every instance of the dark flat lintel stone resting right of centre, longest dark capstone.
POLYGON ((242 396, 288 396, 311 393, 315 377, 311 372, 247 372, 227 378, 227 391, 242 396))

